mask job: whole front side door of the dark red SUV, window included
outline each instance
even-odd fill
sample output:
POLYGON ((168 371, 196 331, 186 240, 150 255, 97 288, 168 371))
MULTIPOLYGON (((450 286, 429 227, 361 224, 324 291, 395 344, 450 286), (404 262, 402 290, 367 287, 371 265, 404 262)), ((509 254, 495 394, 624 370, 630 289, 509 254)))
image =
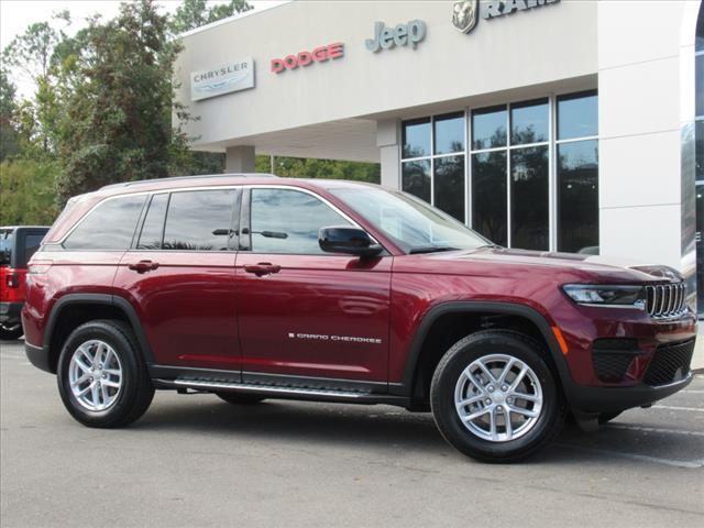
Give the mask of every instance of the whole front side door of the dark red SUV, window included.
POLYGON ((242 211, 235 275, 243 378, 386 382, 392 257, 323 253, 319 229, 352 222, 301 189, 245 190, 242 211))

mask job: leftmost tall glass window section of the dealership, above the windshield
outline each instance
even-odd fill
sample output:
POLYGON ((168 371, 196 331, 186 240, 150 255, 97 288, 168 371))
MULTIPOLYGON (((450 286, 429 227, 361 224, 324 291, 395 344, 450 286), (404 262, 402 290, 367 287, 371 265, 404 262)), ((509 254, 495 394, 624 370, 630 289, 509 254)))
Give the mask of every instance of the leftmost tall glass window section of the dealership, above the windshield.
POLYGON ((465 221, 464 112, 404 121, 402 189, 465 221))

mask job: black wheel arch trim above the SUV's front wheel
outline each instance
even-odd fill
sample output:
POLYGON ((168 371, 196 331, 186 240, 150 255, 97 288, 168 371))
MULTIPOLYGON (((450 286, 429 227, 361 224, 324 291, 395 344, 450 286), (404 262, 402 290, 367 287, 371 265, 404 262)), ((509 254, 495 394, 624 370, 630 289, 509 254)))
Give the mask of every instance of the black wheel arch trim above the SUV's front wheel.
POLYGON ((560 381, 563 386, 565 386, 566 389, 568 386, 573 385, 574 382, 572 382, 572 377, 570 376, 566 361, 560 350, 560 344, 552 333, 550 324, 546 318, 536 309, 514 302, 450 301, 433 306, 424 317, 422 321, 418 326, 418 330, 416 330, 416 336, 414 337, 413 344, 408 351, 402 383, 391 384, 391 392, 394 394, 409 394, 413 391, 414 375, 420 356, 420 350, 422 349, 422 343, 428 337, 430 328, 440 316, 444 316, 447 314, 470 314, 482 311, 506 316, 519 316, 532 322, 540 330, 540 333, 548 344, 548 351, 550 352, 550 355, 558 369, 560 381))

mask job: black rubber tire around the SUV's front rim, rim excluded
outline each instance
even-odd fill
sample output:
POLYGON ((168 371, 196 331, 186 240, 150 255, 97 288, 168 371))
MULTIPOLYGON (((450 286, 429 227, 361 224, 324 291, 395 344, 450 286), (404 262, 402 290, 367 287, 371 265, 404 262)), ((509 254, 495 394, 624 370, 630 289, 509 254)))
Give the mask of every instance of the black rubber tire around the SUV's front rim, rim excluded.
MULTIPOLYGON (((516 462, 543 449, 560 432, 566 405, 548 353, 532 339, 506 330, 485 330, 458 341, 438 364, 430 385, 432 415, 444 439, 460 452, 483 462, 516 462), (514 440, 493 441, 464 426, 455 409, 455 385, 473 361, 492 354, 513 356, 535 373, 542 391, 542 408, 534 426, 514 440)), ((497 389, 498 391, 498 389, 497 389)))

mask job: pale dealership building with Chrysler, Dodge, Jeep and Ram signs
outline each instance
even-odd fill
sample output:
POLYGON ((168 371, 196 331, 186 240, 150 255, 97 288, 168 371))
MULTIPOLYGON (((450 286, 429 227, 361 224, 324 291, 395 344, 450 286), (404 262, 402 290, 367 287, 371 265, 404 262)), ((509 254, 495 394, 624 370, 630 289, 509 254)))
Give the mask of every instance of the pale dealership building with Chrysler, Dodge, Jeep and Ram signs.
POLYGON ((194 148, 226 152, 227 172, 254 172, 255 154, 381 163, 383 185, 498 244, 664 263, 694 292, 698 13, 298 0, 184 34, 178 99, 199 118, 194 148))

